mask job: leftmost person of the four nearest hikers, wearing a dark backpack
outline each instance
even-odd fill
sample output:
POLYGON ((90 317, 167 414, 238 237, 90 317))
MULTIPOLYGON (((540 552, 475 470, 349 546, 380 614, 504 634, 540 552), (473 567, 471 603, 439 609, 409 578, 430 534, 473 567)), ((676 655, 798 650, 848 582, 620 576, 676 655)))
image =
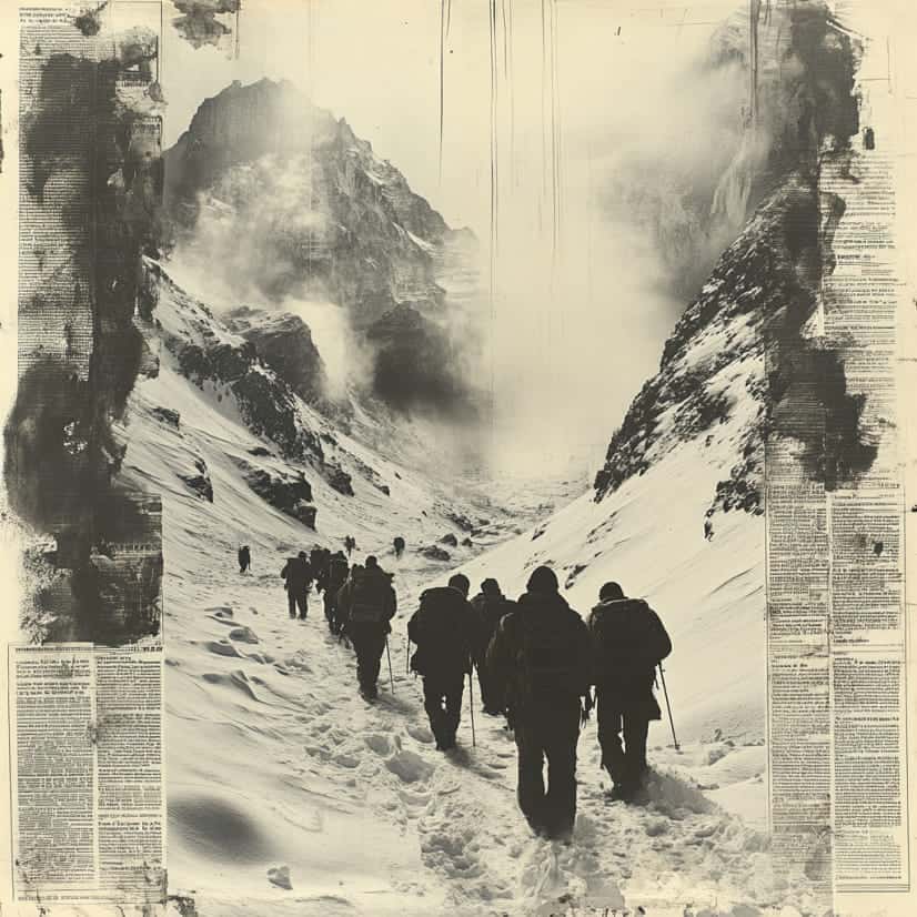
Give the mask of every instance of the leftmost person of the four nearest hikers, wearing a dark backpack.
POLYGON ((476 627, 470 586, 468 577, 456 573, 447 586, 424 591, 407 622, 407 636, 417 645, 411 666, 423 676, 424 708, 443 752, 455 747, 465 675, 471 673, 476 627))

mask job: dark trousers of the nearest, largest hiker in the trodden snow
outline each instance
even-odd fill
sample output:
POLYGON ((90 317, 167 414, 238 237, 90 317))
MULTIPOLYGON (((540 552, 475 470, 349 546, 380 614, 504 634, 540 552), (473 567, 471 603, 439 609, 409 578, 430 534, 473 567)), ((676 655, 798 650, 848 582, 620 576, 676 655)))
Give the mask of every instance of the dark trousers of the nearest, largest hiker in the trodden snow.
POLYGON ((568 836, 576 820, 580 698, 534 705, 517 712, 513 725, 518 749, 516 796, 520 808, 537 834, 568 836))

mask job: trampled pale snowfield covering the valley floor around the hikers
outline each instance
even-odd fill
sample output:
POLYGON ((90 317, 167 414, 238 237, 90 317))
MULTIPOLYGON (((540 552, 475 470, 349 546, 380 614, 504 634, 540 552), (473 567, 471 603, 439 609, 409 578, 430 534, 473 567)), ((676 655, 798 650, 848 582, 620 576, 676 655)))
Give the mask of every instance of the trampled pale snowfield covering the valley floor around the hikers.
MULTIPOLYGON (((191 334, 189 301, 177 296, 160 308, 164 330, 191 334)), ((198 387, 164 349, 160 356, 159 375, 132 399, 124 471, 164 504, 173 914, 809 909, 803 878, 773 874, 764 834, 762 521, 729 513, 717 516, 712 541, 703 532, 740 414, 703 447, 674 450, 602 503, 586 495, 548 522, 563 500, 556 483, 544 490, 551 500, 534 486, 507 493, 511 515, 471 485, 434 481, 335 432, 335 457, 355 462, 347 466, 355 496, 302 465, 318 507, 312 532, 259 497, 238 461, 288 471, 295 463, 255 460, 252 450, 276 447, 251 434, 229 390, 198 387), (180 411, 178 426, 163 421, 161 407, 180 411), (199 460, 212 503, 178 476, 199 460), (361 477, 360 463, 392 485, 391 495, 361 477), (486 513, 487 523, 452 561, 427 561, 420 546, 444 532, 464 536, 450 513, 486 513), (520 527, 527 531, 516 535, 520 527), (279 577, 290 554, 337 547, 345 534, 356 537, 355 560, 377 553, 396 574, 393 684, 383 661, 374 706, 360 698, 353 654, 328 634, 320 598, 311 597, 306 622, 291 621, 279 577), (394 534, 409 543, 401 562, 394 534), (243 542, 252 548, 246 576, 235 563, 243 542), (583 614, 608 578, 659 611, 675 644, 667 675, 683 745, 672 746, 668 723, 653 725, 647 805, 608 799, 594 723, 580 740, 571 846, 531 835, 515 803, 512 736, 476 711, 473 746, 467 694, 460 747, 434 749, 421 685, 406 674, 404 627, 420 591, 444 582, 463 556, 475 586, 496 575, 515 595, 534 565, 551 562, 583 614)), ((319 429, 322 419, 301 407, 319 429)))

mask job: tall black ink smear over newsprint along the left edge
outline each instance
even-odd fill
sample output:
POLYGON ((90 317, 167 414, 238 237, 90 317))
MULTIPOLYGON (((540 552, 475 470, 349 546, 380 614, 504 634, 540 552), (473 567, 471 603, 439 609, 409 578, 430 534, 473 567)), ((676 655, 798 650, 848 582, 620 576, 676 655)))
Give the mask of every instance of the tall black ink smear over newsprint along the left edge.
POLYGON ((162 195, 161 121, 121 103, 118 88, 149 83, 155 47, 134 30, 108 60, 52 54, 23 114, 21 181, 32 203, 20 231, 56 222, 67 249, 41 292, 20 303, 21 328, 62 328, 63 353, 41 337, 23 351, 20 340, 24 370, 4 430, 11 507, 56 541, 42 558, 51 581, 33 597, 46 639, 120 645, 160 627, 160 503, 119 482, 125 445, 114 429, 144 360, 133 313, 162 195))

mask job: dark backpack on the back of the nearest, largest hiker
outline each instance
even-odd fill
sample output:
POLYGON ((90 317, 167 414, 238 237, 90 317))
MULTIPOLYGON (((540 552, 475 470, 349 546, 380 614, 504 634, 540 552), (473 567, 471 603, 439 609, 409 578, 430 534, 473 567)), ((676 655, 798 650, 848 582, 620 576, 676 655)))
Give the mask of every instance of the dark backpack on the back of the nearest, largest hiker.
POLYGON ((525 699, 556 699, 584 693, 588 673, 583 672, 578 637, 576 628, 556 615, 532 615, 520 622, 516 672, 525 699))

